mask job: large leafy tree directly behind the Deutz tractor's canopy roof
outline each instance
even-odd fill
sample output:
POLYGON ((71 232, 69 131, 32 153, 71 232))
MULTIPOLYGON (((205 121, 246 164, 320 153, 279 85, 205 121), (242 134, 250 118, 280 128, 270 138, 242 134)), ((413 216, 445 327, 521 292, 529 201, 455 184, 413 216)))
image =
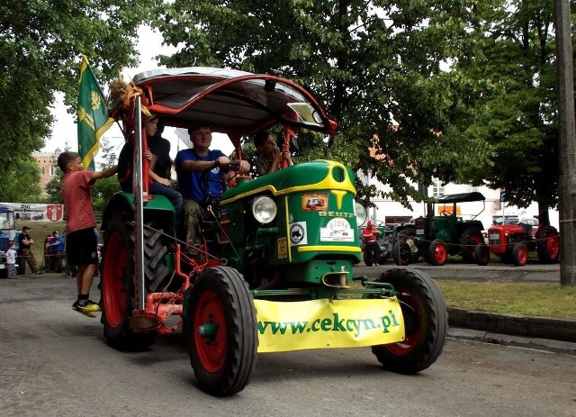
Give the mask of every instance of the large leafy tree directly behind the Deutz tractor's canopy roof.
MULTIPOLYGON (((422 195, 408 180, 464 180, 490 164, 485 142, 452 124, 455 93, 441 69, 477 3, 175 0, 161 5, 153 24, 166 43, 182 46, 161 57, 168 67, 279 70, 307 86, 339 123, 332 158, 370 171, 409 204, 422 195), (368 152, 373 138, 380 161, 368 152)), ((314 134, 301 144, 303 158, 323 148, 314 134)), ((357 186, 365 198, 374 191, 357 186)))

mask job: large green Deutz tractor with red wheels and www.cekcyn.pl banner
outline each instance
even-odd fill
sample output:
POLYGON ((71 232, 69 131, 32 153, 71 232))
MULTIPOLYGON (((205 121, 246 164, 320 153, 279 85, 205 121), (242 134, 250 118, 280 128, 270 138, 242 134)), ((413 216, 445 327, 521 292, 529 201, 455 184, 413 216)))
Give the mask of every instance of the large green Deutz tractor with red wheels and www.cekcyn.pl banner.
POLYGON ((257 352, 372 346, 384 368, 403 374, 437 360, 447 319, 432 279, 410 269, 374 281, 353 275, 360 248, 350 168, 315 160, 236 177, 207 207, 202 247, 190 256, 172 205, 146 193, 142 104, 166 126, 211 122, 240 159, 241 138, 276 124, 286 149, 295 131, 334 134, 336 122, 308 91, 220 68, 160 69, 133 83, 111 100, 135 141, 135 189, 114 195, 103 214, 102 322, 112 347, 148 349, 182 329, 198 385, 222 396, 244 389, 257 352))

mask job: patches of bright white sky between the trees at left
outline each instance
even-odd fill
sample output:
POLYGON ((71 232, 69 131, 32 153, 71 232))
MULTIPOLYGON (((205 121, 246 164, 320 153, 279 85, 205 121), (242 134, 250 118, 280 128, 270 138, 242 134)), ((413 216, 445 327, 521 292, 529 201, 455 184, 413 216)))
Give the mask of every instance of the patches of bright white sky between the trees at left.
MULTIPOLYGON (((154 32, 148 26, 142 26, 139 28, 139 42, 137 45, 137 50, 140 54, 140 63, 137 68, 125 68, 122 71, 122 77, 124 80, 129 81, 132 77, 142 71, 148 71, 150 69, 164 68, 157 64, 155 56, 160 53, 166 55, 173 53, 175 48, 162 46, 162 35, 159 32, 154 32)), ((90 57, 88 57, 90 60, 90 57)), ((78 64, 79 65, 79 64, 78 64)), ((104 86, 102 86, 105 90, 104 86)), ((77 135, 76 135, 76 123, 75 115, 67 113, 66 106, 62 102, 62 95, 57 95, 57 100, 54 107, 51 109, 54 115, 55 121, 52 124, 52 134, 46 140, 44 148, 41 149, 42 152, 55 152, 56 150, 64 150, 68 147, 70 150, 77 151, 77 135)), ((183 141, 180 141, 178 134, 181 136, 186 136, 184 130, 180 130, 178 133, 175 132, 174 128, 167 127, 163 133, 163 137, 170 141, 171 150, 170 157, 175 158, 175 154, 178 150, 186 148, 183 141)), ((124 143, 120 128, 116 123, 103 134, 103 138, 109 142, 114 148, 114 152, 118 156, 120 154, 121 147, 124 143)), ((212 139, 212 148, 220 149, 225 154, 229 154, 233 147, 229 142, 227 136, 214 135, 212 139)), ((96 162, 101 162, 102 159, 96 155, 96 162)))

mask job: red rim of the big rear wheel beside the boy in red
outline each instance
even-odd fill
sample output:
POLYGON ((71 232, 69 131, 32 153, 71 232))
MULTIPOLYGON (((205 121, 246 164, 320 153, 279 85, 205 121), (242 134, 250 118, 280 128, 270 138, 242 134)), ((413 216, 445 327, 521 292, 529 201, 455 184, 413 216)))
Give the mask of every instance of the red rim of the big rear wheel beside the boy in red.
POLYGON ((103 304, 106 320, 110 326, 116 328, 126 312, 128 294, 124 288, 123 279, 129 270, 130 257, 124 245, 120 232, 112 232, 106 242, 106 254, 103 262, 103 304))

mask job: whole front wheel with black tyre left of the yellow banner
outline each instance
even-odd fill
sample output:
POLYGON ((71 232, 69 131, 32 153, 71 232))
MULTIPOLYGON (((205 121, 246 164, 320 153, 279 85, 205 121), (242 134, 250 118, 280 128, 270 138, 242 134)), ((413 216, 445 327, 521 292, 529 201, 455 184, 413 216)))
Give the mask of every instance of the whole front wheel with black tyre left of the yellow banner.
POLYGON ((203 391, 236 394, 257 361, 257 321, 246 281, 231 267, 210 267, 194 282, 185 309, 194 375, 203 391))

